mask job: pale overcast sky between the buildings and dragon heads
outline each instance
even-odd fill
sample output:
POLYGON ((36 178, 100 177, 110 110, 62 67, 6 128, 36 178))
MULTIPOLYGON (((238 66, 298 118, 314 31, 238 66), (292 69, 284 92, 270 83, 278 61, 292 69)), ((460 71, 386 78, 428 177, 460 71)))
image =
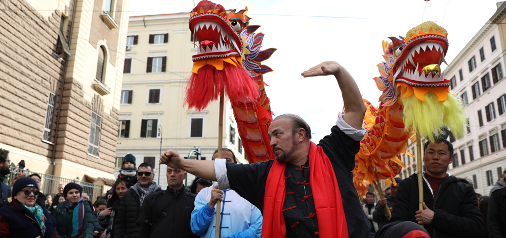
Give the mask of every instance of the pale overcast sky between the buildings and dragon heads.
MULTIPOLYGON (((381 92, 372 78, 379 75, 376 65, 383 59, 382 40, 405 36, 420 23, 434 21, 448 31, 445 58, 450 63, 497 10, 497 1, 490 0, 432 0, 425 15, 424 0, 213 2, 225 9, 247 6, 250 24, 262 26, 258 32, 265 34, 263 49, 278 49, 264 62, 274 70, 264 76, 270 85, 266 92, 272 111, 302 116, 315 133, 312 141, 316 143, 330 133, 343 99, 333 76, 303 78, 304 70, 323 61, 339 62, 354 77, 363 97, 377 106, 381 92)), ((130 16, 193 8, 192 0, 132 0, 130 16)))

